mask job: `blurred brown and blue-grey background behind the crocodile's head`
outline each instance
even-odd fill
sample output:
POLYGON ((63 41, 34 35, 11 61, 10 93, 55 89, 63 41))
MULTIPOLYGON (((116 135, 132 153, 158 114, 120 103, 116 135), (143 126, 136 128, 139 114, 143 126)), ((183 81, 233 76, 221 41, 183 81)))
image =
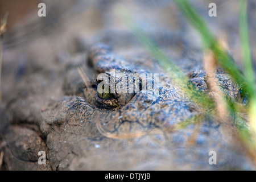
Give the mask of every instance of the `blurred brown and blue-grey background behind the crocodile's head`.
MULTIPOLYGON (((238 0, 189 2, 243 69, 238 0), (208 15, 209 3, 216 3, 216 17, 208 15)), ((256 1, 248 0, 247 3, 251 55, 255 69, 256 1)), ((0 18, 9 13, 7 31, 2 39, 0 116, 3 116, 1 107, 6 108, 13 98, 19 97, 17 88, 26 88, 26 85, 19 84, 20 80, 35 73, 48 77, 54 75, 56 70, 64 70, 64 65, 71 62, 70 57, 88 51, 96 42, 110 44, 116 53, 126 57, 150 55, 116 14, 120 4, 181 70, 188 73, 203 69, 200 36, 171 0, 0 0, 0 18), (40 2, 46 4, 46 17, 38 16, 40 2)), ((72 64, 76 64, 76 60, 72 61, 72 64)), ((62 77, 57 75, 54 79, 56 93, 51 94, 57 96, 62 84, 57 80, 62 77)), ((51 85, 47 81, 40 78, 40 84, 51 85)))

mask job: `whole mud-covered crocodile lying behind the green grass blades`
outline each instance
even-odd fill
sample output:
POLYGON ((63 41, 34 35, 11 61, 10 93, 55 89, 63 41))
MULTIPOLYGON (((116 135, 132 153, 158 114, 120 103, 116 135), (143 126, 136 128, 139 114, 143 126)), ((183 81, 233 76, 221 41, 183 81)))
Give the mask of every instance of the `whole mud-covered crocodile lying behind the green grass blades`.
MULTIPOLYGON (((209 94, 201 51, 193 47, 188 53, 184 47, 191 43, 181 33, 167 32, 163 40, 163 34, 148 32, 188 75, 188 85, 209 94)), ((75 53, 55 57, 51 67, 34 63, 36 71, 26 75, 18 65, 21 71, 13 96, 0 109, 2 169, 254 168, 235 127, 227 129, 218 118, 205 117, 130 32, 107 30, 96 39, 79 36, 73 42, 75 53), (123 79, 131 82, 132 92, 125 92, 129 91, 126 84, 119 88, 123 79), (104 90, 102 83, 109 89, 104 90), (149 83, 151 87, 143 86, 149 83), (200 122, 175 128, 185 121, 200 122), (42 151, 44 164, 39 162, 42 151), (217 164, 210 163, 212 151, 217 164)), ((225 96, 246 104, 240 85, 228 74, 217 69, 215 78, 225 96)))

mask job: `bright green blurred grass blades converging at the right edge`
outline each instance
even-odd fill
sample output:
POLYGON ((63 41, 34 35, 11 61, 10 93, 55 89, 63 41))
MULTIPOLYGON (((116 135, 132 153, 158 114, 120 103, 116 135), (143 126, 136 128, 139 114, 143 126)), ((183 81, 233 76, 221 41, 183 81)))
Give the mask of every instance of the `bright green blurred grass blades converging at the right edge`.
MULTIPOLYGON (((203 18, 196 12, 193 6, 187 0, 173 0, 179 9, 183 12, 188 22, 197 30, 201 36, 203 42, 203 51, 208 52, 209 50, 214 53, 216 60, 229 73, 230 76, 234 78, 241 85, 243 94, 249 98, 249 109, 247 113, 249 114, 250 126, 247 125, 246 121, 238 115, 238 106, 234 102, 227 102, 229 115, 235 115, 234 125, 237 127, 238 133, 240 134, 240 139, 243 144, 246 145, 247 151, 253 156, 254 162, 256 161, 255 155, 255 133, 256 133, 256 98, 255 98, 255 81, 254 81, 254 71, 253 64, 251 63, 250 56, 250 43, 249 34, 247 26, 247 1, 240 0, 239 2, 239 13, 240 13, 240 38, 241 38, 241 48, 243 56, 244 73, 238 69, 238 66, 232 60, 232 57, 228 55, 228 52, 217 42, 214 38, 212 32, 207 27, 203 18), (253 130, 251 130, 251 128, 253 130)), ((228 114, 228 113, 226 113, 228 114)))

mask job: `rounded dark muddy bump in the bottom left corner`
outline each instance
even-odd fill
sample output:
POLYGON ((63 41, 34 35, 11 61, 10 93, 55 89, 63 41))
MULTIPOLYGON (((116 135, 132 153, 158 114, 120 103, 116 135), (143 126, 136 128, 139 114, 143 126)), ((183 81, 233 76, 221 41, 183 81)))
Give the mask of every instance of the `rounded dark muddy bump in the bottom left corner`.
POLYGON ((38 165, 39 151, 46 151, 46 159, 49 158, 45 141, 35 131, 24 127, 11 126, 5 134, 5 141, 8 146, 5 150, 5 155, 8 156, 5 163, 9 164, 7 169, 51 169, 49 160, 46 160, 45 165, 38 165))

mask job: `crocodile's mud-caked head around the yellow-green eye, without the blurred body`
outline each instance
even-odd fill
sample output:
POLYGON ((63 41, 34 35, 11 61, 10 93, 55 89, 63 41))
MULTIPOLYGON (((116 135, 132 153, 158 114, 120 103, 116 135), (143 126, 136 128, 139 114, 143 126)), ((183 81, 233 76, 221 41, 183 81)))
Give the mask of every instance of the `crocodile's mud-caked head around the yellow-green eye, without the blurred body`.
MULTIPOLYGON (((190 81, 203 90, 198 82, 205 81, 205 73, 196 73, 190 74, 190 81)), ((151 57, 125 59, 98 43, 61 75, 59 100, 34 106, 32 98, 42 97, 41 92, 11 104, 12 115, 33 118, 24 123, 37 126, 25 132, 16 123, 5 131, 11 167, 23 169, 28 163, 30 169, 205 169, 211 167, 211 150, 222 154, 218 161, 227 162, 220 168, 237 165, 226 156, 242 160, 222 137, 221 124, 214 118, 205 121, 200 107, 151 57), (20 109, 22 104, 30 114, 20 109), (187 127, 175 127, 189 121, 187 127), (46 165, 38 164, 39 151, 46 152, 46 165)))

